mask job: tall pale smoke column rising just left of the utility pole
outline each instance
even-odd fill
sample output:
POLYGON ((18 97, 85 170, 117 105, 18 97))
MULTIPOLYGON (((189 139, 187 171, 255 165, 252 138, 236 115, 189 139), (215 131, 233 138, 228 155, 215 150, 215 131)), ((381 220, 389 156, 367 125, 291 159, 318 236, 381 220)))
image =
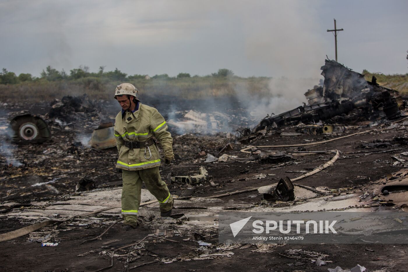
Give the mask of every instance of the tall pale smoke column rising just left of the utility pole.
POLYGON ((264 74, 272 76, 268 91, 260 96, 237 90, 248 97, 247 111, 258 120, 256 123, 266 114, 281 114, 306 102, 304 93, 319 83, 325 58, 324 38, 314 31, 319 29, 318 5, 305 1, 273 3, 251 2, 255 7, 242 13, 246 57, 253 67, 264 67, 264 74))

